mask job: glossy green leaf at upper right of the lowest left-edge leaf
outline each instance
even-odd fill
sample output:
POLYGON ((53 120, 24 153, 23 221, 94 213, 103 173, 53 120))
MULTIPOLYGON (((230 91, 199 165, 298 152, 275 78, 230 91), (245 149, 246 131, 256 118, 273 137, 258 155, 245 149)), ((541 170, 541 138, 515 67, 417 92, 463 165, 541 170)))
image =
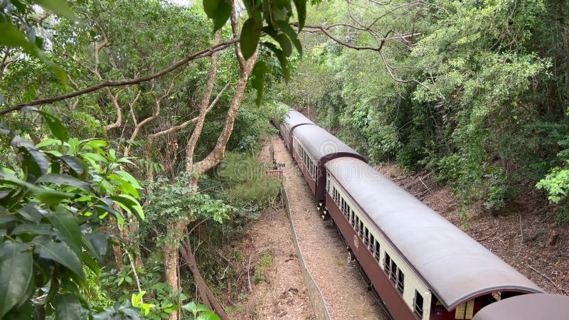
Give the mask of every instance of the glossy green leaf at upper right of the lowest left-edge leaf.
POLYGON ((32 242, 36 245, 36 251, 41 258, 58 262, 85 281, 85 274, 83 273, 80 257, 67 243, 55 242, 52 238, 46 236, 38 237, 32 242))

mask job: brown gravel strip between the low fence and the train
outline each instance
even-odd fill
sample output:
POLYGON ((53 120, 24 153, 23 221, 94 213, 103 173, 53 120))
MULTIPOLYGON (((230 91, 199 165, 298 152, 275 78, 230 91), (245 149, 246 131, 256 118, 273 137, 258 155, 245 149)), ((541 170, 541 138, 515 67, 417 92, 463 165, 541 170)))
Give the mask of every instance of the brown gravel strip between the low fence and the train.
POLYGON ((390 319, 349 260, 346 246, 330 220, 322 221, 318 203, 285 148, 274 139, 275 160, 285 164, 284 185, 307 269, 321 289, 331 319, 390 319))

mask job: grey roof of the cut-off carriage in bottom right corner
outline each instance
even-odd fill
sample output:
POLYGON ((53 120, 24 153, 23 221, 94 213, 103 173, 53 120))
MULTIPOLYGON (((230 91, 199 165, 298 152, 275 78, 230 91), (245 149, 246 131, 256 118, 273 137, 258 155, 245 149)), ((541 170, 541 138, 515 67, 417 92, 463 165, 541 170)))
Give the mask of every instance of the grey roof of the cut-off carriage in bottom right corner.
POLYGON ((569 319, 569 297, 561 294, 523 294, 485 306, 473 319, 566 320, 569 319))

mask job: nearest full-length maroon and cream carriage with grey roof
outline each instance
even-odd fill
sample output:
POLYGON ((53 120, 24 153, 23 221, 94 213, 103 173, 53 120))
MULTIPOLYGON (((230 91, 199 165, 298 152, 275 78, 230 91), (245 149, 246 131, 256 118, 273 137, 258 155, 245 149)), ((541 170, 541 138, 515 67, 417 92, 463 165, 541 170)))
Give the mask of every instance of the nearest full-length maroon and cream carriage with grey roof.
POLYGON ((325 168, 326 208, 393 319, 472 319, 496 297, 542 292, 365 162, 325 168))

